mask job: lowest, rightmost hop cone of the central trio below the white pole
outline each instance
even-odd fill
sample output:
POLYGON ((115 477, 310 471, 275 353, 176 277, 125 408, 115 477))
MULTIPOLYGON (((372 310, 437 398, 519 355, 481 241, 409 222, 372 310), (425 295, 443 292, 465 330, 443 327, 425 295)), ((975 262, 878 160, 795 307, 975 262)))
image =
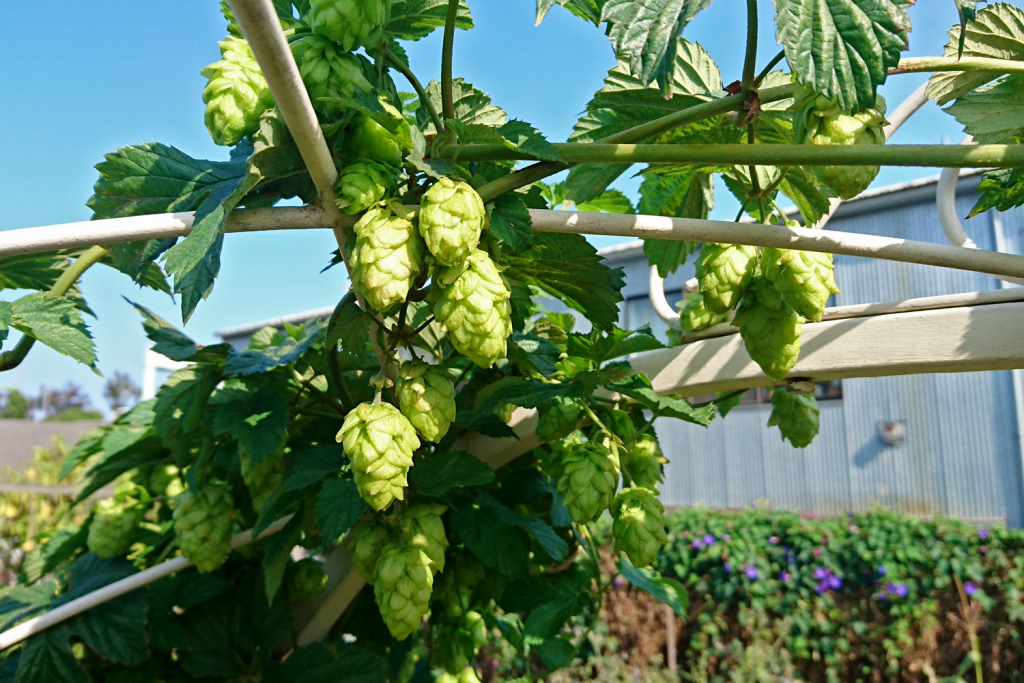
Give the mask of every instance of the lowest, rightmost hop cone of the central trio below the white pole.
POLYGON ((479 249, 463 265, 441 270, 441 297, 434 317, 447 330, 456 350, 481 368, 507 354, 512 334, 512 296, 508 281, 479 249))

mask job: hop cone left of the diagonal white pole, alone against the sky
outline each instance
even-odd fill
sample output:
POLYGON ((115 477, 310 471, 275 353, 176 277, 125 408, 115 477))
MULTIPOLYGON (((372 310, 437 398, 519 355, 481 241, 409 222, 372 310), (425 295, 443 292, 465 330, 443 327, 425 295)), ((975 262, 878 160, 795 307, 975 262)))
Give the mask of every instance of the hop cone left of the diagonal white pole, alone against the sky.
POLYGON ((273 95, 249 43, 228 37, 220 43, 220 61, 201 73, 206 129, 217 144, 232 146, 259 130, 259 118, 273 106, 273 95))

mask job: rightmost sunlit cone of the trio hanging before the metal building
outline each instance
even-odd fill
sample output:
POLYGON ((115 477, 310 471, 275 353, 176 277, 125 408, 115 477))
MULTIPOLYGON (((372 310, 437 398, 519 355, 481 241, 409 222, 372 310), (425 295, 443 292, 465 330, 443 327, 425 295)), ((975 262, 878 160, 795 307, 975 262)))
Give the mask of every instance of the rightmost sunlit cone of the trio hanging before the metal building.
POLYGON ((828 297, 839 294, 833 273, 831 254, 796 249, 766 249, 765 278, 782 298, 809 321, 821 322, 828 297))

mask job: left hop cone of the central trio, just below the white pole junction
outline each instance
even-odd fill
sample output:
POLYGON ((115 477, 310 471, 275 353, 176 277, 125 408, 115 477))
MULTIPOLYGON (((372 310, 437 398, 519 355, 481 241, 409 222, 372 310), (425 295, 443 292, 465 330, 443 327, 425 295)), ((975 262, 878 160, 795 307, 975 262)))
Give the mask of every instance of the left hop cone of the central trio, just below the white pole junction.
POLYGON ((400 207, 375 207, 354 227, 352 289, 382 312, 406 300, 423 261, 423 240, 400 207))

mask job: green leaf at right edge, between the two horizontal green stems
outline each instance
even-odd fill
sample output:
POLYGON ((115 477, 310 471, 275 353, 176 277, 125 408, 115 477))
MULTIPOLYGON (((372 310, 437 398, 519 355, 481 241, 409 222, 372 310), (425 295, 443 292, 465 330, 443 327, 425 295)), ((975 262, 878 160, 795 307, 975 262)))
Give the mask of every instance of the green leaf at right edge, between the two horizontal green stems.
POLYGON ((957 97, 946 108, 980 144, 1011 141, 1024 132, 1024 78, 1011 76, 957 97))

